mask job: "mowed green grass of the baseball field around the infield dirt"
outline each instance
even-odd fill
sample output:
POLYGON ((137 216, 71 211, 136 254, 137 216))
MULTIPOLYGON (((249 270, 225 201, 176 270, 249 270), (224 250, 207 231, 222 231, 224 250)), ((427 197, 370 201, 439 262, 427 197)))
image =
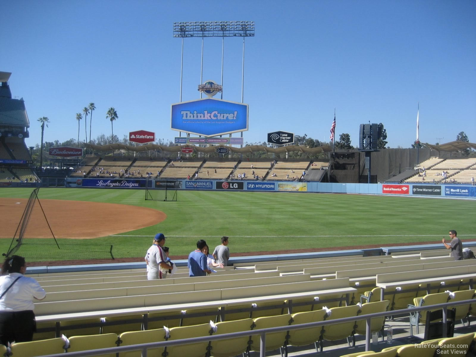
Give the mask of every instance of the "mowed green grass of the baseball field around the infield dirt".
MULTIPOLYGON (((28 198, 31 188, 3 188, 0 198, 28 198)), ((146 201, 144 190, 40 188, 41 199, 109 202, 161 210, 158 225, 103 238, 27 239, 17 254, 31 260, 143 257, 153 236, 170 239, 171 256, 187 255, 198 239, 211 249, 230 237, 235 252, 441 242, 449 229, 476 241, 476 201, 420 197, 289 192, 178 191, 177 202, 146 201)), ((121 219, 121 212, 111 212, 121 219)), ((80 219, 80 218, 78 218, 80 219)), ((20 220, 20 217, 19 217, 20 220)), ((2 224, 18 225, 18 222, 2 224)), ((65 222, 68 224, 68 222, 65 222)), ((11 239, 0 239, 0 252, 11 239)))

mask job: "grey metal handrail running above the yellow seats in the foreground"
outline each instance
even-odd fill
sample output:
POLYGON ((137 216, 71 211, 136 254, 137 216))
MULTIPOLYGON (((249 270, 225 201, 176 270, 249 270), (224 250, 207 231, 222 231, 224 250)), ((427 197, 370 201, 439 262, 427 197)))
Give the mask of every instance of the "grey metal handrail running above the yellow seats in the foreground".
POLYGON ((308 327, 319 327, 323 325, 334 325, 339 323, 351 322, 351 321, 359 321, 359 320, 367 320, 366 321, 366 342, 365 342, 365 350, 368 351, 370 349, 370 322, 372 318, 375 317, 384 317, 388 316, 389 313, 391 315, 401 315, 410 312, 416 311, 426 311, 426 310, 437 310, 439 308, 443 308, 443 337, 446 337, 446 308, 448 306, 460 306, 476 303, 476 299, 469 299, 469 300, 461 300, 461 301, 453 301, 453 302, 446 302, 442 304, 436 305, 426 305, 422 307, 412 307, 412 308, 405 308, 400 310, 391 310, 391 311, 384 311, 384 312, 376 312, 373 314, 367 315, 357 315, 351 317, 344 317, 344 318, 337 318, 335 320, 324 320, 319 322, 308 322, 305 324, 298 324, 298 325, 288 325, 288 326, 278 326, 278 327, 268 327, 262 328, 257 330, 248 330, 248 331, 240 331, 240 332, 232 332, 228 334, 222 335, 211 335, 211 336, 203 336, 203 337, 191 337, 191 338, 184 338, 172 341, 160 341, 160 342, 150 342, 150 343, 142 343, 138 345, 130 345, 130 346, 119 346, 119 347, 108 347, 108 348, 99 348, 94 350, 87 350, 87 351, 78 351, 78 352, 68 352, 67 354, 64 353, 57 353, 53 355, 44 355, 38 357, 89 357, 89 356, 99 356, 108 353, 121 353, 121 352, 129 352, 129 351, 142 351, 142 357, 147 357, 147 349, 148 348, 157 348, 157 347, 166 347, 166 346, 175 346, 175 345, 186 345, 189 343, 198 343, 204 341, 215 341, 215 340, 222 340, 228 339, 233 337, 243 337, 243 336, 260 336, 260 357, 265 357, 265 346, 266 346, 266 334, 273 333, 273 332, 282 332, 282 331, 289 331, 289 330, 300 330, 308 327))

